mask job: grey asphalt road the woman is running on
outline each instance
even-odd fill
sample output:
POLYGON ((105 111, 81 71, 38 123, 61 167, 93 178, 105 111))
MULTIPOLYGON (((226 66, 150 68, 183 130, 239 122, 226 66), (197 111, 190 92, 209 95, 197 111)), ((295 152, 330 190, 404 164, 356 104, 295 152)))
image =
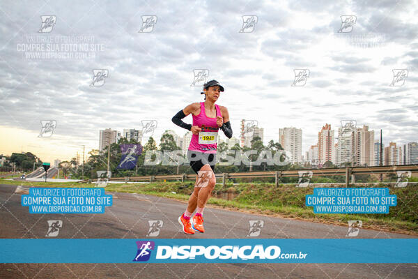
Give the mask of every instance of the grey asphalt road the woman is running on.
MULTIPOLYGON (((348 227, 208 207, 206 232, 187 235, 177 221, 184 202, 107 193, 114 195, 114 204, 104 214, 30 214, 20 205, 24 190, 16 189, 0 185, 0 238, 46 239, 47 220, 63 221, 60 239, 144 239, 148 220, 162 220, 156 237, 162 239, 247 238, 249 220, 264 221, 258 238, 345 239, 348 231, 348 227)), ((414 236, 361 229, 357 237, 414 236)), ((0 278, 418 278, 418 264, 0 264, 0 278)))

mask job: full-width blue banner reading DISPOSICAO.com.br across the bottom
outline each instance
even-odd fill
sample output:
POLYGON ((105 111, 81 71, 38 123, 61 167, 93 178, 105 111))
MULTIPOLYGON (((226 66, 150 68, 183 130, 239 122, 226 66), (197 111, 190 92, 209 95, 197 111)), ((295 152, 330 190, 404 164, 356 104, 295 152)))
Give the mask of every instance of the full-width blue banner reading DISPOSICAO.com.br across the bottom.
POLYGON ((418 263, 418 239, 0 239, 0 247, 1 263, 418 263))

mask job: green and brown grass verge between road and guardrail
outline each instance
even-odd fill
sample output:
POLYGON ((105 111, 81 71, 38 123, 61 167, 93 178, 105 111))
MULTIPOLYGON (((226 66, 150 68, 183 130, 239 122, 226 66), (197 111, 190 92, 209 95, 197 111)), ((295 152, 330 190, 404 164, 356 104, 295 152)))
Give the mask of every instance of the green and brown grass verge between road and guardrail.
MULTIPOLYGON (((93 187, 88 183, 45 183, 32 181, 10 181, 0 179, 0 183, 35 187, 93 187)), ((141 184, 109 184, 110 192, 140 193, 187 201, 192 193, 192 182, 160 182, 141 184)), ((398 205, 390 207, 389 214, 316 214, 312 207, 304 206, 304 197, 313 193, 313 188, 295 188, 281 185, 275 188, 272 184, 242 183, 238 186, 217 185, 208 204, 223 209, 244 211, 307 220, 316 223, 327 223, 347 226, 348 220, 362 220, 364 229, 376 229, 383 232, 398 232, 418 235, 418 197, 417 187, 389 188, 391 195, 396 195, 398 205), (231 193, 232 200, 222 199, 231 193)))

